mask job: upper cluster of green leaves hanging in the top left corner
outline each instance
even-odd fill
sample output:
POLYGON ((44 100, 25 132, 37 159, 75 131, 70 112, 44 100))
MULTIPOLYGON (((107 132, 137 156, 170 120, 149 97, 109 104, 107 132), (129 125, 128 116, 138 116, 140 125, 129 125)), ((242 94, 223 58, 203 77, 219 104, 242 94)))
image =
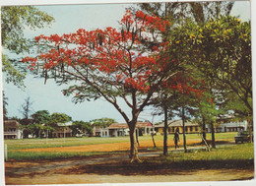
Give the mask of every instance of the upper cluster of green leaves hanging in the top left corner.
POLYGON ((29 51, 32 43, 24 38, 24 30, 41 29, 54 19, 32 6, 4 6, 1 8, 2 45, 17 54, 29 51))

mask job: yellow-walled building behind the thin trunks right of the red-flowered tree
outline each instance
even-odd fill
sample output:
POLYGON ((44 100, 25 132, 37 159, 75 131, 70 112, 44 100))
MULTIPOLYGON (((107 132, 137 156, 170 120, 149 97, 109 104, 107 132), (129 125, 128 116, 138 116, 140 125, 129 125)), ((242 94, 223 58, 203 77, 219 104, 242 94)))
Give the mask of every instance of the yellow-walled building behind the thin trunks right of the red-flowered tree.
MULTIPOLYGON (((176 130, 179 131, 179 133, 183 133, 183 123, 182 120, 169 120, 167 121, 168 128, 167 133, 168 134, 174 134, 176 130)), ((159 125, 155 125, 155 131, 156 133, 163 134, 163 128, 164 128, 164 122, 161 122, 159 125)), ((190 121, 185 122, 185 133, 192 134, 192 133, 199 133, 200 129, 197 123, 192 123, 190 121)))

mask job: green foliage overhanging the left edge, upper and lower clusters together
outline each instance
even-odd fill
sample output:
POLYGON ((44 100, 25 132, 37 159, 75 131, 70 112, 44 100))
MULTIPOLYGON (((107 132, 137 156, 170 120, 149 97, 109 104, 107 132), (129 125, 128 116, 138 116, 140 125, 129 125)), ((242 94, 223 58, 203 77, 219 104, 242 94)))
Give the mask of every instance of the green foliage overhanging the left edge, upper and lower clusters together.
MULTIPOLYGON (((54 19, 32 6, 3 6, 1 7, 1 45, 9 51, 20 54, 29 52, 34 44, 24 37, 24 30, 41 29, 50 25, 54 19)), ((7 83, 12 82, 19 88, 24 88, 26 69, 21 65, 15 66, 17 59, 11 60, 2 53, 3 72, 7 83)))

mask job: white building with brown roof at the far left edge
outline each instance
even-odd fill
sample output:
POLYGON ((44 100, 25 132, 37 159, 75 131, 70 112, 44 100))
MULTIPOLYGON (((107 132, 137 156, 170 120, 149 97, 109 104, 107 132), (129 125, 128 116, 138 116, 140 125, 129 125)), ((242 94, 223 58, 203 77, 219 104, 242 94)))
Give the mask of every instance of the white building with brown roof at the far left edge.
POLYGON ((21 124, 16 120, 4 121, 4 139, 23 139, 21 124))

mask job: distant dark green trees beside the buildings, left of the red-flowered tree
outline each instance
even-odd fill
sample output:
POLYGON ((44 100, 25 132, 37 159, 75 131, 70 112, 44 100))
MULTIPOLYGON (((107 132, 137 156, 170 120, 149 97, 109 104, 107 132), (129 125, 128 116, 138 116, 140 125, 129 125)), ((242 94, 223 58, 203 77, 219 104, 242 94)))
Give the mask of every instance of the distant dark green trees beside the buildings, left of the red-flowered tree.
MULTIPOLYGON (((4 100, 5 105, 7 105, 7 98, 4 100)), ((55 131, 63 129, 63 126, 59 126, 59 124, 65 124, 67 122, 72 122, 72 125, 69 126, 69 128, 72 130, 73 136, 85 133, 92 135, 94 127, 108 127, 110 124, 116 122, 111 118, 99 118, 90 121, 73 121, 72 117, 65 113, 53 112, 50 114, 48 110, 38 110, 32 113, 32 100, 30 96, 25 99, 20 112, 22 113, 23 118, 8 118, 7 109, 5 107, 6 114, 4 114, 4 119, 17 120, 21 124, 24 138, 29 138, 29 136, 32 136, 32 138, 43 138, 46 136, 52 138, 55 131)))

